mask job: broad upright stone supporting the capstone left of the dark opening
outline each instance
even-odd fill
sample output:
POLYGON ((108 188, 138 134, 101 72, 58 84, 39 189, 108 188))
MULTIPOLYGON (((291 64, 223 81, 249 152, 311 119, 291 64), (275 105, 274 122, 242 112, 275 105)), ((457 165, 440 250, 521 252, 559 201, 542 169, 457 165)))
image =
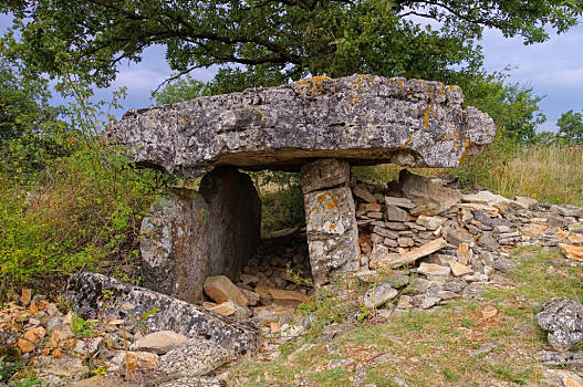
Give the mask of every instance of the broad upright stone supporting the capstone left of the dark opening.
POLYGON ((144 286, 201 301, 207 276, 236 280, 260 241, 260 217, 253 182, 236 168, 207 174, 198 192, 176 190, 142 223, 144 286))

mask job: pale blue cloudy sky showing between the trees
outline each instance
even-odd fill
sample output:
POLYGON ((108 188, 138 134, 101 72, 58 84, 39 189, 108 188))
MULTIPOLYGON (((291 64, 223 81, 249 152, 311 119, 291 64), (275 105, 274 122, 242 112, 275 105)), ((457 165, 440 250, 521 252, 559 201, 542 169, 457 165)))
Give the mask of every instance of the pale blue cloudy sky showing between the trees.
MULTIPOLYGON (((10 24, 10 18, 0 14, 0 34, 10 24)), ((509 82, 532 87, 535 95, 543 96, 540 103, 548 121, 539 130, 556 130, 556 119, 562 113, 583 111, 583 20, 566 33, 552 34, 544 43, 524 45, 520 38, 507 39, 494 30, 487 30, 479 44, 483 48, 487 71, 502 71, 510 66, 509 82)), ((200 69, 190 73, 199 81, 210 81, 216 67, 200 69)), ((108 90, 98 90, 100 100, 111 98, 112 90, 127 87, 121 117, 129 108, 154 104, 150 92, 171 74, 163 46, 153 46, 144 52, 142 62, 125 63, 108 90)), ((54 100, 60 103, 59 98, 54 100)))

